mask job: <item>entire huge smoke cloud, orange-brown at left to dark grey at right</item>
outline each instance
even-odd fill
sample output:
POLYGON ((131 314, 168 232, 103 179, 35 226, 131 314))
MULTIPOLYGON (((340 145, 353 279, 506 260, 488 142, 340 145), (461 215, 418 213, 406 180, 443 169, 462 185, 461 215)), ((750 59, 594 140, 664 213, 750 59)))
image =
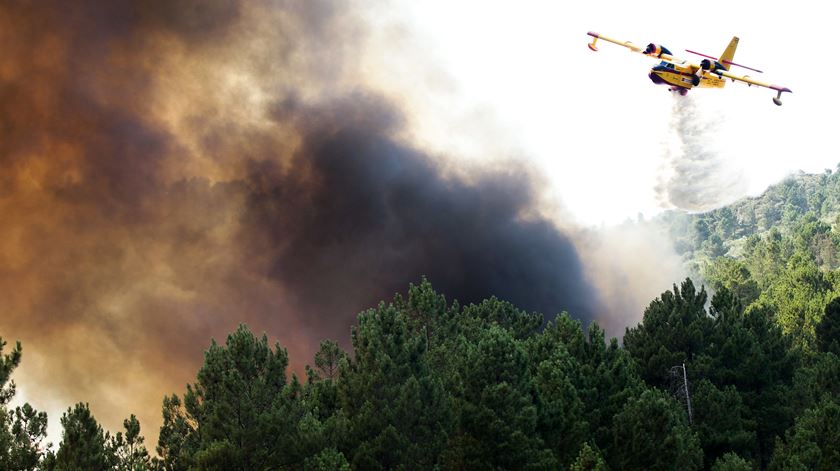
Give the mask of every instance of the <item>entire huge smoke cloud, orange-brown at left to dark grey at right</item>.
POLYGON ((211 337, 247 322, 300 368, 423 275, 592 318, 528 171, 400 141, 363 35, 328 1, 0 4, 0 335, 54 423, 90 401, 153 441, 211 337))

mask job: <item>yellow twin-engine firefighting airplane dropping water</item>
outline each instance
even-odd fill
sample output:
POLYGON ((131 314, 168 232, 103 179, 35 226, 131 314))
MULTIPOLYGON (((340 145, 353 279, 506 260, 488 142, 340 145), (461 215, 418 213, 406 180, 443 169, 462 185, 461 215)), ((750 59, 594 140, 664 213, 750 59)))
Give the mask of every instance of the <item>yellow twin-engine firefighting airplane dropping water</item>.
POLYGON ((657 85, 670 85, 669 90, 672 92, 678 92, 680 95, 685 95, 694 87, 723 88, 723 86, 726 85, 725 78, 731 79, 733 82, 736 80, 744 82, 748 86, 756 85, 776 90, 778 93, 775 97, 773 97, 773 103, 778 106, 782 105, 782 92, 793 93, 787 87, 780 87, 778 85, 759 82, 758 80, 750 78, 749 75, 735 75, 730 73, 729 67, 732 65, 761 73, 760 70, 732 62, 732 59, 735 57, 735 48, 738 47, 737 37, 732 38, 732 41, 729 42, 729 46, 726 47, 726 50, 723 51, 723 54, 721 54, 719 58, 686 49, 686 52, 705 57, 705 59, 700 61, 700 64, 694 64, 672 56, 671 51, 658 44, 651 43, 648 44, 647 48, 642 49, 630 41, 619 41, 591 31, 587 34, 592 36, 592 42, 589 43, 589 49, 592 49, 593 51, 598 50, 598 48, 595 47, 595 43, 600 39, 602 41, 618 44, 619 46, 624 46, 631 52, 639 52, 649 57, 662 59, 662 62, 650 69, 648 77, 650 77, 653 83, 657 85))

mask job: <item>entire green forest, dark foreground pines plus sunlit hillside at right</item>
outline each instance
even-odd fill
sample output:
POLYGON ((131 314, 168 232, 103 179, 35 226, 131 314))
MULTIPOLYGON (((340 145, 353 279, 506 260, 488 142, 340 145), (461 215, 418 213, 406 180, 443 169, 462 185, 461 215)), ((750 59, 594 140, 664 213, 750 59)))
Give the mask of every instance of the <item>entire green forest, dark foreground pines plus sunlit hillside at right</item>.
POLYGON ((836 173, 797 175, 664 215, 704 281, 621 341, 425 280, 360 313, 350 351, 322 342, 304 377, 242 325, 163 398, 155 446, 81 403, 48 448, 46 414, 9 405, 22 347, 0 343, 0 469, 840 469, 838 195, 836 173))

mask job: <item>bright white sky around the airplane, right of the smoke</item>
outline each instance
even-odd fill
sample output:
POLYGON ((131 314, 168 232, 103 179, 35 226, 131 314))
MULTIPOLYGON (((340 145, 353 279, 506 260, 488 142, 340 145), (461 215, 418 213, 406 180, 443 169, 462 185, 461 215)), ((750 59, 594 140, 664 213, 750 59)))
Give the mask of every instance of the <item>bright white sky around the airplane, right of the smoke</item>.
POLYGON ((406 0, 373 9, 383 27, 367 59, 371 74, 417 110, 419 139, 461 155, 539 162, 580 222, 615 223, 667 206, 654 188, 673 159, 674 99, 648 79, 652 59, 604 42, 593 53, 586 32, 663 44, 694 61, 685 49, 718 56, 737 35, 735 61, 764 71, 742 73, 793 90, 782 107, 773 91, 739 83, 691 92, 693 112, 711 128, 697 138, 717 150, 719 176, 737 177, 723 203, 840 161, 831 82, 840 65, 826 55, 833 15, 824 5, 406 0))

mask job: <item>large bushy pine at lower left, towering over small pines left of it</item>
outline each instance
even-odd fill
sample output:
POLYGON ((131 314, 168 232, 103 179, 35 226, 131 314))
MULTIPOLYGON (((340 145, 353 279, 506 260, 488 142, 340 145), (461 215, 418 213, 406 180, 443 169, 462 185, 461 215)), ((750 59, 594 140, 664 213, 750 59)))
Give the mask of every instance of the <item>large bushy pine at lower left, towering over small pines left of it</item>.
POLYGON ((212 342, 183 402, 164 399, 158 453, 168 470, 250 470, 300 465, 301 386, 287 383, 288 355, 244 325, 212 342))

